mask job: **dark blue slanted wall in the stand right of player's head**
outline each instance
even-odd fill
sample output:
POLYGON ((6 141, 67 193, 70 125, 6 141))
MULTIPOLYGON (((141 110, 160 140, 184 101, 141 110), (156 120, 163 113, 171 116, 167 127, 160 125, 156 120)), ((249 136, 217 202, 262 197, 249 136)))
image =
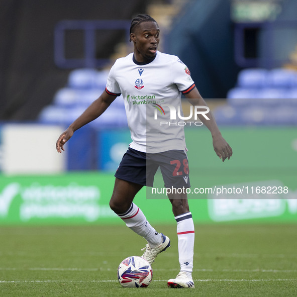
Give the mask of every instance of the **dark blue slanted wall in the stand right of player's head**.
POLYGON ((226 98, 239 71, 230 5, 226 0, 190 2, 167 37, 166 52, 177 55, 189 67, 205 98, 226 98))

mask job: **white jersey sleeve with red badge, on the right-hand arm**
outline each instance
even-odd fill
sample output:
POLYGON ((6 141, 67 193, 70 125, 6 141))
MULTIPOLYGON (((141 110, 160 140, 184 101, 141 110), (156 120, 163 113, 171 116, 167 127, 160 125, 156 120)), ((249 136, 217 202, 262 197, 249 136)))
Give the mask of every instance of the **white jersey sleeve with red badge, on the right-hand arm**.
POLYGON ((195 83, 191 78, 188 67, 176 56, 174 56, 172 63, 172 80, 183 94, 187 94, 195 88, 195 83))

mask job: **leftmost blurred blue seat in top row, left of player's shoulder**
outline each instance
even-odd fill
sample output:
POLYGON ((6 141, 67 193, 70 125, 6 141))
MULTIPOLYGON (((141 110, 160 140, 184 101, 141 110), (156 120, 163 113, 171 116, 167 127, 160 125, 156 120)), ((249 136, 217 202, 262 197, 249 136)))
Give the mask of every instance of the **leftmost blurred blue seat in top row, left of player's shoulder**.
POLYGON ((68 86, 71 88, 96 87, 98 71, 91 68, 75 69, 68 76, 68 86))

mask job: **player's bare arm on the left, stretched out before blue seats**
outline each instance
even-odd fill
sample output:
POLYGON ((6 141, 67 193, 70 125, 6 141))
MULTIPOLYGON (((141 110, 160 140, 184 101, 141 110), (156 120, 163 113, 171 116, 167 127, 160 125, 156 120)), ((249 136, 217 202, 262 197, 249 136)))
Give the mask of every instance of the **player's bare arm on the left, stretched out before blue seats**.
POLYGON ((73 133, 101 116, 112 104, 117 95, 112 95, 104 91, 58 138, 56 150, 58 153, 64 151, 64 144, 71 138, 73 133))

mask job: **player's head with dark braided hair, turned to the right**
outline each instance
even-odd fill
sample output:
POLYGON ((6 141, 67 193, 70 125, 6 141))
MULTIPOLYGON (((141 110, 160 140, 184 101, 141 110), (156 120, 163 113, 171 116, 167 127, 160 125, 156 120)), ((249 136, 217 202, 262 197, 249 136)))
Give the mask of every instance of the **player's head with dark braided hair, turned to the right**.
POLYGON ((134 43, 134 53, 145 59, 156 55, 159 44, 159 26, 149 15, 138 15, 130 27, 130 41, 134 43))

